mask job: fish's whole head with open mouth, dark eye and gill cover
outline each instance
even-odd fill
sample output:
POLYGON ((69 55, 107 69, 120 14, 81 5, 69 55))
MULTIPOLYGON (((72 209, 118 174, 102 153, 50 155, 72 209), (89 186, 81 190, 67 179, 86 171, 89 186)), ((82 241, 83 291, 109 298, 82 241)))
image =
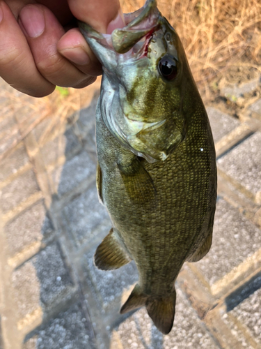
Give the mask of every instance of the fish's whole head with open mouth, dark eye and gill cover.
POLYGON ((155 0, 125 15, 125 22, 111 35, 79 22, 103 66, 102 119, 134 154, 149 162, 164 161, 185 137, 183 48, 155 0))

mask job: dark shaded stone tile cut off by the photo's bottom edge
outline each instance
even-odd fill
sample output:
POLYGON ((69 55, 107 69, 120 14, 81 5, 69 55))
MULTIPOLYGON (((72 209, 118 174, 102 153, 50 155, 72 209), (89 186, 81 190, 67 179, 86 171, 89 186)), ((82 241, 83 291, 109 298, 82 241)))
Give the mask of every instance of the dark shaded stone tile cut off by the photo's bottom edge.
POLYGON ((95 349, 95 338, 90 320, 74 304, 50 320, 35 336, 24 343, 23 349, 95 349))

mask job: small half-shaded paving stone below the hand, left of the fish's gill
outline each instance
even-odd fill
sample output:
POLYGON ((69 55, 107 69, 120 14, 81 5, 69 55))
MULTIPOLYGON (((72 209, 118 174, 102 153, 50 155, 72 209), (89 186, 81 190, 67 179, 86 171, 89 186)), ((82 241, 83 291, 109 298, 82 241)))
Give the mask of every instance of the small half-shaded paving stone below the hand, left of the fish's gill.
POLYGON ((58 135, 54 140, 47 142, 42 147, 42 157, 45 161, 45 165, 58 161, 60 156, 68 156, 72 151, 77 151, 81 148, 81 144, 74 135, 72 128, 67 130, 64 134, 58 135))

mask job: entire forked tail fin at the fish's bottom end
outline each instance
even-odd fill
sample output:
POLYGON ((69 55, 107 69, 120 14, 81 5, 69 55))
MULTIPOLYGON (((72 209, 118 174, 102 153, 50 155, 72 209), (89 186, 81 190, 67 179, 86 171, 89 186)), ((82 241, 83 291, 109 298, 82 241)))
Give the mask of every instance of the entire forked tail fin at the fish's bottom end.
POLYGON ((128 311, 145 306, 148 315, 154 322, 155 326, 163 334, 171 332, 175 316, 176 291, 173 290, 168 297, 150 297, 141 292, 140 286, 134 287, 131 295, 123 304, 120 313, 124 314, 128 311))

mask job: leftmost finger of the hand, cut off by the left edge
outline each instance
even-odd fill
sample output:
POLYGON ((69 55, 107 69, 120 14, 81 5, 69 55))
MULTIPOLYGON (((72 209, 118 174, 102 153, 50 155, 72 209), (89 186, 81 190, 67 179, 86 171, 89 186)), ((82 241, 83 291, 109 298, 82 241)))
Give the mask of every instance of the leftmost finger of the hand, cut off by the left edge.
POLYGON ((29 45, 10 8, 0 1, 0 76, 15 89, 42 97, 54 91, 35 66, 29 45))

